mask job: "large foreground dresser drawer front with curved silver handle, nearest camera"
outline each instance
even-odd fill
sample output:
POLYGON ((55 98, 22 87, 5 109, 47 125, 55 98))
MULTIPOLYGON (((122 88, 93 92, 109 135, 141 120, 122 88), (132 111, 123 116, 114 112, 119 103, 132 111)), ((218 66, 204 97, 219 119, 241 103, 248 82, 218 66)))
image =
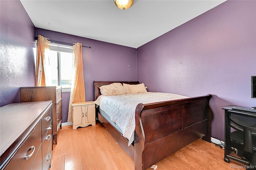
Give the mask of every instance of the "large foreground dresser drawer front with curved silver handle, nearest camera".
POLYGON ((6 166, 6 170, 14 169, 30 169, 36 154, 42 143, 42 122, 40 121, 36 128, 29 135, 28 139, 18 152, 14 155, 12 160, 6 166))

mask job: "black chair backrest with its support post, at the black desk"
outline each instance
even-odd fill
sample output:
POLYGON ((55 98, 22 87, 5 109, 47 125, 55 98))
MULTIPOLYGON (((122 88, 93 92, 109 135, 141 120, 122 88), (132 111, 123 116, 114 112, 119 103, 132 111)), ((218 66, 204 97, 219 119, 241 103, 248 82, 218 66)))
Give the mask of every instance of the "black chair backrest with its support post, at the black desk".
POLYGON ((227 113, 230 127, 243 131, 244 150, 252 153, 252 136, 256 136, 256 117, 247 117, 236 111, 227 111, 227 113))

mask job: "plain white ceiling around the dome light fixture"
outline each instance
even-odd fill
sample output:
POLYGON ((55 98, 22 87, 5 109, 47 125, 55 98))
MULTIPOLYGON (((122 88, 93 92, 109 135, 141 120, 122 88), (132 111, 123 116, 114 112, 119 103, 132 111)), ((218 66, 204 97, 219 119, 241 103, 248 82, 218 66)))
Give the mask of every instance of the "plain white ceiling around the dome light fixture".
POLYGON ((20 0, 36 28, 138 48, 226 0, 20 0))

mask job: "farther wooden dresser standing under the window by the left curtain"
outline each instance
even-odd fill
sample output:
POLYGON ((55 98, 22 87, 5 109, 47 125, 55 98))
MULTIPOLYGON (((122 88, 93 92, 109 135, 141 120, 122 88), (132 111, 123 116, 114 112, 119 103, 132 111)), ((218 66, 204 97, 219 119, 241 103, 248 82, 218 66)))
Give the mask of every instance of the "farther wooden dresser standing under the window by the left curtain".
POLYGON ((21 87, 21 102, 52 100, 52 134, 57 144, 57 132, 62 121, 61 86, 21 87))

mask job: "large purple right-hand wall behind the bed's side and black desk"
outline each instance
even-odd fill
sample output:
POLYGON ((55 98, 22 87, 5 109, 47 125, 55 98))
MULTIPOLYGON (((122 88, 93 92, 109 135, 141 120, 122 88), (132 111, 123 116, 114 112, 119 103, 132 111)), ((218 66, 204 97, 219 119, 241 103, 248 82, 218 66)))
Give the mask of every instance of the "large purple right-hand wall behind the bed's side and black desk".
POLYGON ((213 94, 212 137, 224 140, 226 105, 256 106, 256 1, 226 1, 137 49, 149 91, 213 94))

